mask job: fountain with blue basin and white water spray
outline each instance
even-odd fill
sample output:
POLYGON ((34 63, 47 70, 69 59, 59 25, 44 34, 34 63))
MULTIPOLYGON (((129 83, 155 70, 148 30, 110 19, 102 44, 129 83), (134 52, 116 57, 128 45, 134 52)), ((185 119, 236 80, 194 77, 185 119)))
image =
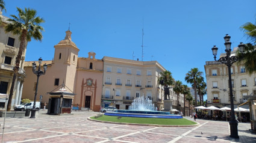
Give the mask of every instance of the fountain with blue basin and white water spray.
POLYGON ((152 104, 152 100, 144 96, 134 99, 128 110, 105 112, 104 115, 141 118, 183 118, 181 115, 170 114, 170 112, 157 111, 155 105, 152 104))

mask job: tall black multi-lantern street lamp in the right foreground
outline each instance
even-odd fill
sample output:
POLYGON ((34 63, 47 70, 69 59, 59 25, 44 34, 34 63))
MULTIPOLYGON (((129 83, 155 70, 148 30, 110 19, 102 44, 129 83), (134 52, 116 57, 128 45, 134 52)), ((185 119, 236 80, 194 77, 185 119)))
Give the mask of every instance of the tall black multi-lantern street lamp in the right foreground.
MULTIPOLYGON (((229 96, 230 96, 230 107, 231 107, 231 120, 229 121, 229 126, 230 126, 230 136, 231 138, 239 138, 238 135, 238 130, 237 130, 237 125, 238 123, 236 122, 235 119, 235 114, 234 114, 234 101, 233 101, 233 89, 232 89, 232 82, 231 82, 231 65, 236 62, 239 58, 237 56, 230 56, 231 55, 231 42, 230 36, 226 34, 224 37, 225 40, 225 52, 226 56, 222 56, 220 59, 216 60, 216 55, 217 55, 217 50, 218 48, 214 45, 211 50, 213 50, 213 55, 214 55, 214 60, 222 62, 223 64, 226 64, 228 66, 228 84, 229 84, 229 96)), ((241 53, 245 52, 245 44, 242 42, 239 44, 239 50, 241 53)))

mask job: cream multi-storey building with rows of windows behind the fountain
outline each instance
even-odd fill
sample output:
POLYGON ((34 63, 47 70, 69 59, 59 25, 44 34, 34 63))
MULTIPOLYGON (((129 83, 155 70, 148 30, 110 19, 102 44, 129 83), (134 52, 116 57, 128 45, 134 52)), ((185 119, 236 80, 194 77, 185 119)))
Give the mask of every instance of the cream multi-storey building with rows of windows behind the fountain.
POLYGON ((159 109, 163 107, 160 72, 166 69, 157 61, 135 61, 104 56, 102 106, 128 109, 133 99, 145 96, 159 109))

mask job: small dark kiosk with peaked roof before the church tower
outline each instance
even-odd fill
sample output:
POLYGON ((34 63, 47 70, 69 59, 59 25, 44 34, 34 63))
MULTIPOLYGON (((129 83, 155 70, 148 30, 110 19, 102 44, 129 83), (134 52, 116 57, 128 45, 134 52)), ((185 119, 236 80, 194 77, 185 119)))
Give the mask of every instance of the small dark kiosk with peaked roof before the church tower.
POLYGON ((60 90, 48 93, 50 94, 50 98, 47 114, 61 115, 71 113, 72 100, 75 94, 72 91, 72 93, 67 92, 64 87, 66 87, 66 85, 62 84, 62 88, 60 88, 60 90))

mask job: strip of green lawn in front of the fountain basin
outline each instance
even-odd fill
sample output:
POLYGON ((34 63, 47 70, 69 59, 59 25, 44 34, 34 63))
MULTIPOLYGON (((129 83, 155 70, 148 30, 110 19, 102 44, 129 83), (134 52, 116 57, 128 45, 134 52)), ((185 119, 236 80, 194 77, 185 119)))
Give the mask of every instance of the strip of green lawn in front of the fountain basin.
POLYGON ((160 125, 193 125, 196 124, 193 121, 185 118, 181 119, 166 119, 166 118, 134 118, 134 117, 122 117, 118 119, 116 116, 103 115, 102 117, 90 117, 94 120, 100 121, 112 121, 118 123, 137 123, 137 124, 160 124, 160 125))

